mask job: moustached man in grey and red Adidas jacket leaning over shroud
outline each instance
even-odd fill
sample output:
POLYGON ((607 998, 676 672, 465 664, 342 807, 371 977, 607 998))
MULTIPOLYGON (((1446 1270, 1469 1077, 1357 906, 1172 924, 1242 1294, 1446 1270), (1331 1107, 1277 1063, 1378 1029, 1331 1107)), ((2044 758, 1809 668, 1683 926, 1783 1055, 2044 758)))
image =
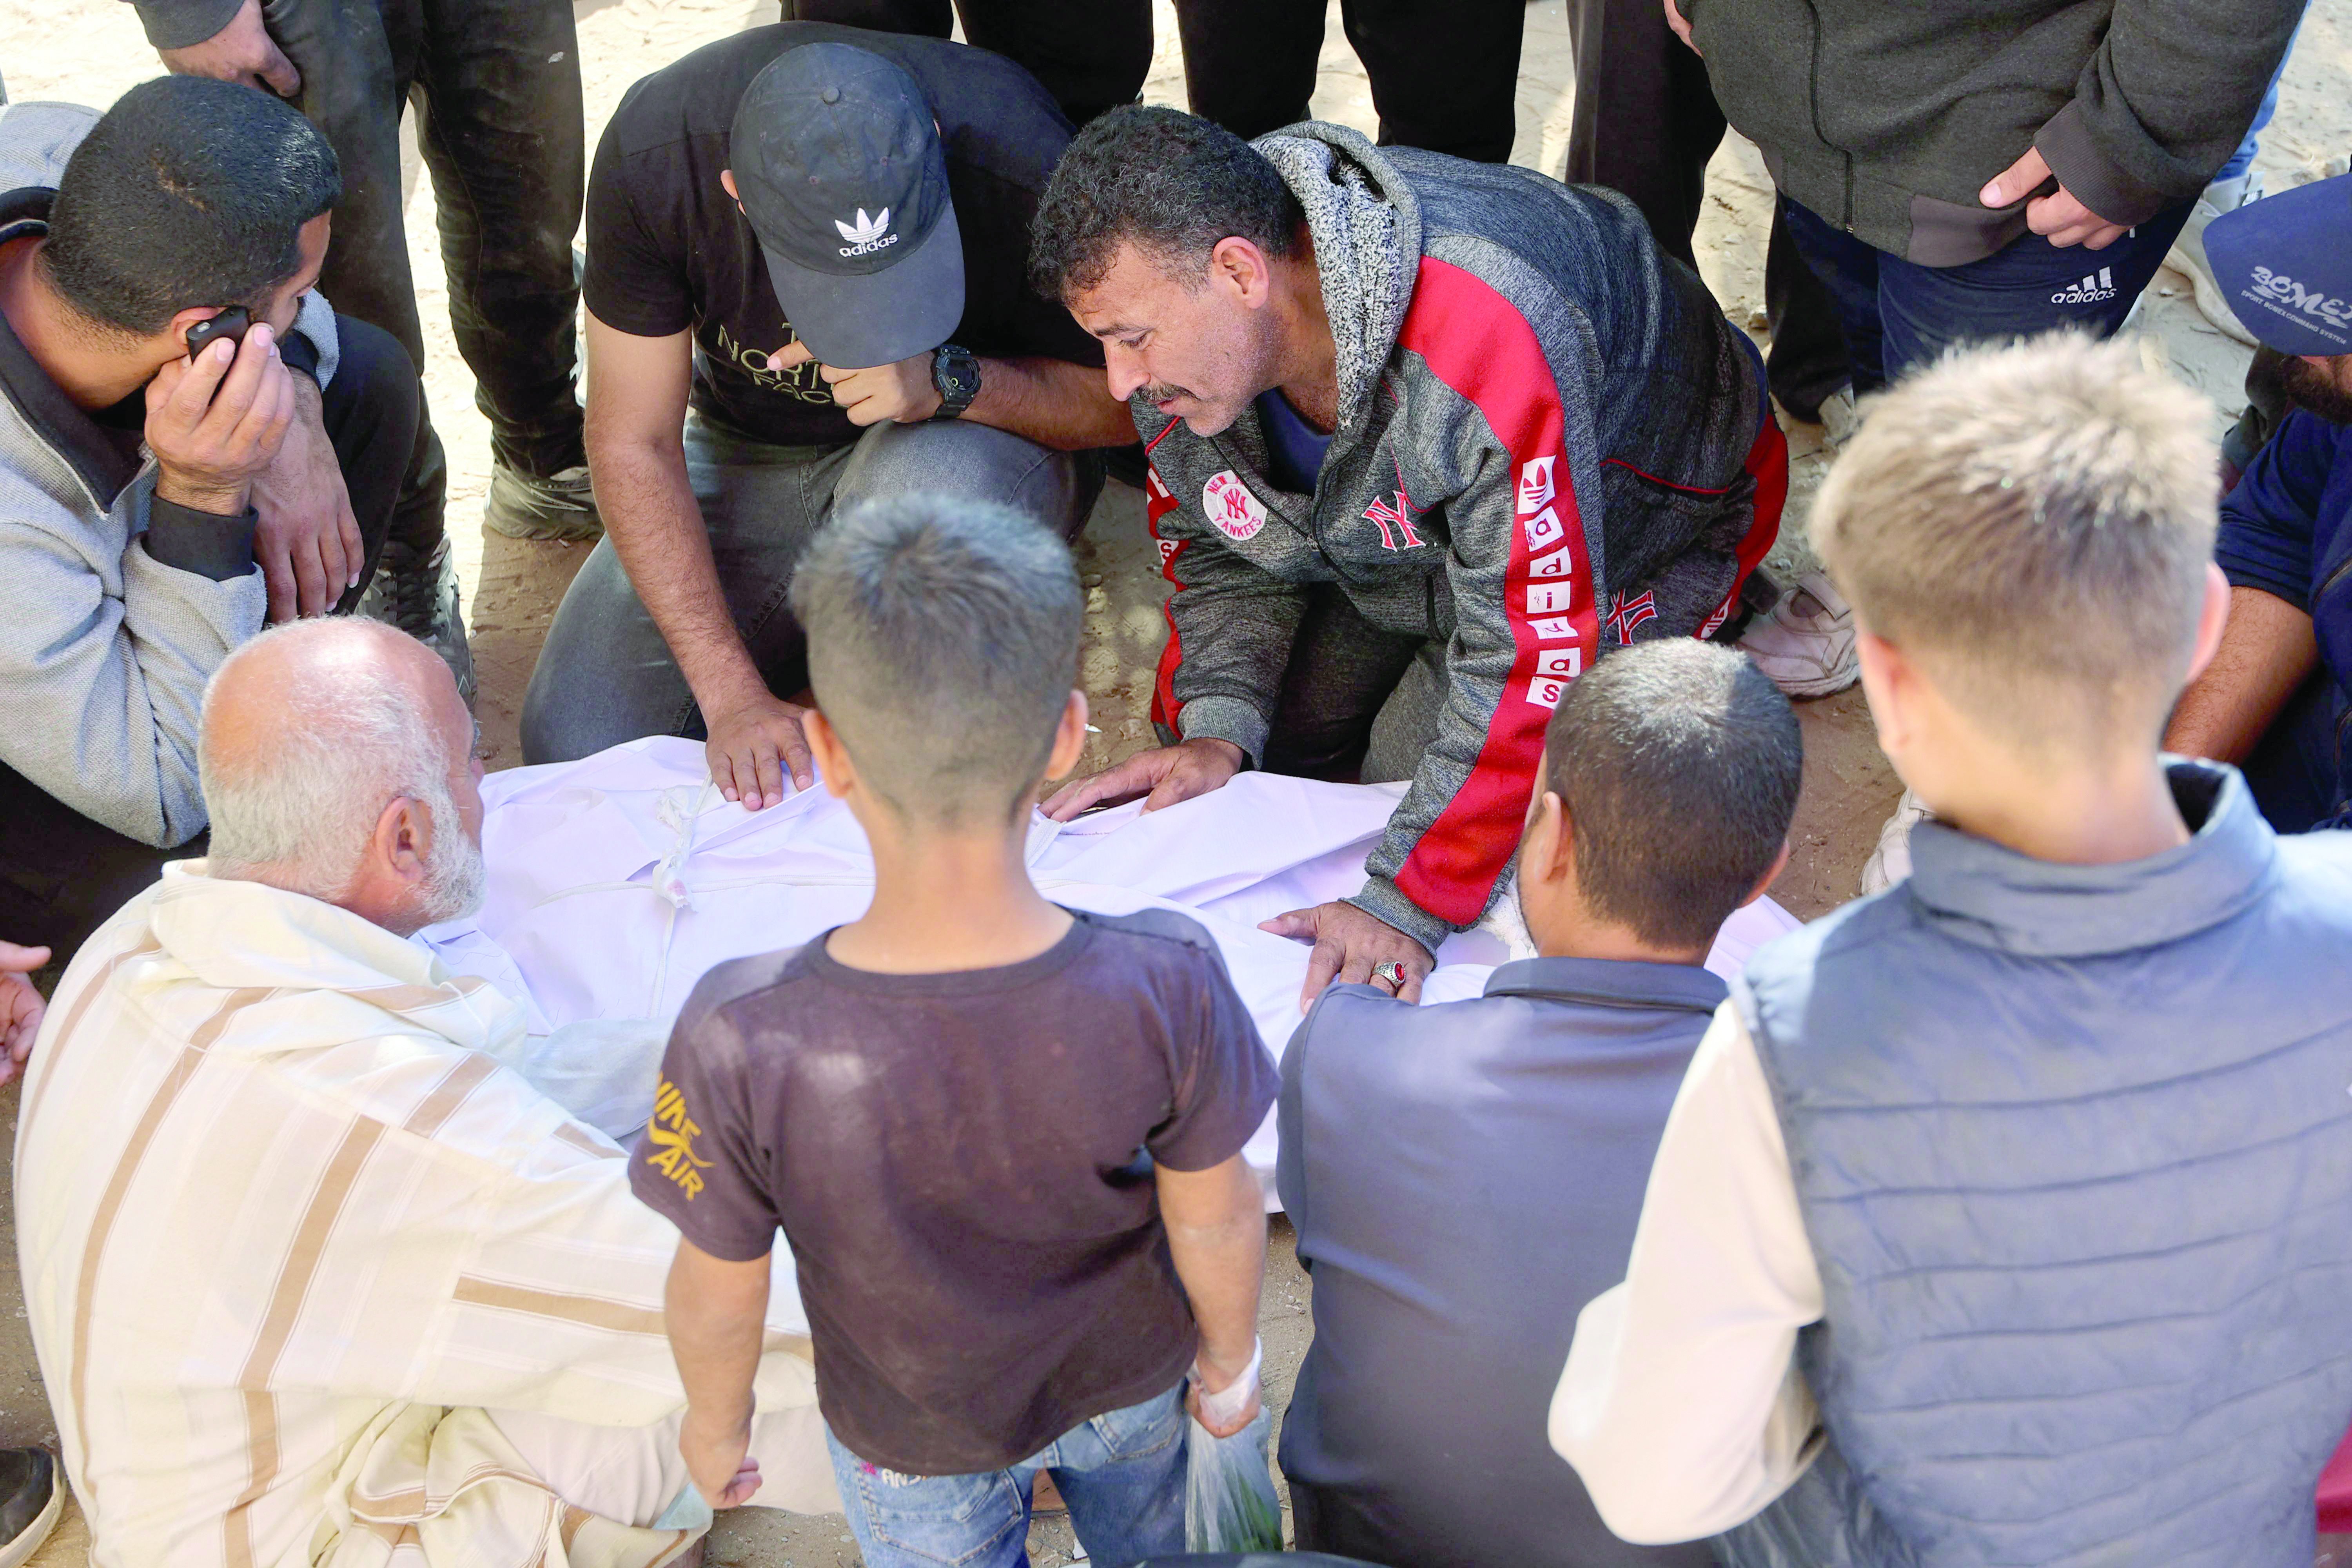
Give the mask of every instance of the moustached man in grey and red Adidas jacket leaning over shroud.
POLYGON ((1047 811, 1411 780, 1364 889, 1268 929, 1315 940, 1308 997, 1416 997, 1494 900, 1566 682, 1736 616, 1788 491, 1755 346, 1623 197, 1315 122, 1103 115, 1030 273, 1103 341, 1176 585, 1167 745, 1047 811))

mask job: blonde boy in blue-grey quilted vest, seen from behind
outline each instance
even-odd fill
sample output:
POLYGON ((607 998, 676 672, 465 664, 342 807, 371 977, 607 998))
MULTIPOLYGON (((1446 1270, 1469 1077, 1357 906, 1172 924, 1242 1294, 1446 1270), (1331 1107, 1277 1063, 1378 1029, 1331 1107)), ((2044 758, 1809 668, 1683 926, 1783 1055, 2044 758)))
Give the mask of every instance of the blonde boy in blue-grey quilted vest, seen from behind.
POLYGON ((2227 611, 2209 428, 2042 339, 1905 381, 1823 487, 1936 820, 1750 964, 1578 1319, 1552 1441, 1628 1540, 2310 1561, 2352 1420, 2352 839, 2157 750, 2227 611))

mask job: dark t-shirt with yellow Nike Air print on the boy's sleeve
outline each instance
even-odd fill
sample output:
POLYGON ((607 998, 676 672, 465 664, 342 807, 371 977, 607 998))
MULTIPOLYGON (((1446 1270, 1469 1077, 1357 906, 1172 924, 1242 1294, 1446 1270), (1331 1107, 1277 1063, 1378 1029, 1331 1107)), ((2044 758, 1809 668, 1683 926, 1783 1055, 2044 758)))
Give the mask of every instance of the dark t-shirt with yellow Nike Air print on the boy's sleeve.
POLYGON ((816 1396, 908 1474, 1023 1460, 1176 1385, 1192 1307, 1152 1161, 1207 1171, 1279 1079, 1209 936, 1077 914, 936 976, 807 947, 703 976, 630 1185, 715 1258, 793 1244, 816 1396))

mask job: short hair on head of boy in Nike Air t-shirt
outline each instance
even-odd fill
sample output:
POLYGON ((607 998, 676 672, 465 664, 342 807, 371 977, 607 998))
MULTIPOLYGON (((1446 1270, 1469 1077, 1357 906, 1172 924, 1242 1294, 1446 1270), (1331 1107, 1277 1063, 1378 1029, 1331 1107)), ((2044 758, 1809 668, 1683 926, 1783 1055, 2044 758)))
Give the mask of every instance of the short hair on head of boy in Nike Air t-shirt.
POLYGON ((993 501, 891 496, 835 517, 793 574, 809 684, 903 818, 1016 816, 1077 684, 1070 550, 993 501))

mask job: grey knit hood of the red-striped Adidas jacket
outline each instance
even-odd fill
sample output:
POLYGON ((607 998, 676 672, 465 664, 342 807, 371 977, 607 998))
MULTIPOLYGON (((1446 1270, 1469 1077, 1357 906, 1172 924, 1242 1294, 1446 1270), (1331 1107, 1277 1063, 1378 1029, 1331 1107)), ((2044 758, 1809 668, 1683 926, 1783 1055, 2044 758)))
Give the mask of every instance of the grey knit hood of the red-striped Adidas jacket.
POLYGON ((1308 120, 1251 146, 1308 212, 1324 315, 1338 346, 1338 428, 1350 430, 1414 301, 1421 205, 1381 148, 1345 125, 1308 120))

